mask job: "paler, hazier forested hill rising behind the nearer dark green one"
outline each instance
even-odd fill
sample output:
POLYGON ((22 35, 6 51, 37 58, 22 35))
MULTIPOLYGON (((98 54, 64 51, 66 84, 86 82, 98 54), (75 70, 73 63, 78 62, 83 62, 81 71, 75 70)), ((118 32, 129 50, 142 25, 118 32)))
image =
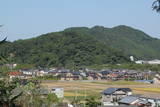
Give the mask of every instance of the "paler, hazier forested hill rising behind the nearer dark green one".
POLYGON ((90 29, 75 27, 66 30, 92 35, 101 43, 119 49, 136 59, 160 59, 160 40, 128 26, 120 25, 113 28, 95 26, 90 29))

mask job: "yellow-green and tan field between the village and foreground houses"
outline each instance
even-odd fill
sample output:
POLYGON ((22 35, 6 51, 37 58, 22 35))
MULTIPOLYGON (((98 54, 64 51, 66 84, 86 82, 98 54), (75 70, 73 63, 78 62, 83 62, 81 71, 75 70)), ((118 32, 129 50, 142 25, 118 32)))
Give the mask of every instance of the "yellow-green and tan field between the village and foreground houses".
POLYGON ((65 98, 100 96, 100 92, 109 88, 131 88, 133 94, 157 95, 160 94, 160 85, 145 84, 133 81, 45 81, 42 86, 51 89, 53 87, 64 88, 65 98))

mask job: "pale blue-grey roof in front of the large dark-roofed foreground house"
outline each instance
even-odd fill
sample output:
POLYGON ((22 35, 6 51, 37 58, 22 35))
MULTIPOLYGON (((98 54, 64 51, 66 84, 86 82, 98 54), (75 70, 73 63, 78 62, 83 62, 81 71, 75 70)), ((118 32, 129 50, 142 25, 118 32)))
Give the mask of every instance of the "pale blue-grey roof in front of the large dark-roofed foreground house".
POLYGON ((138 99, 138 97, 135 97, 135 96, 127 96, 127 97, 124 97, 123 99, 121 99, 119 101, 119 103, 131 104, 132 102, 136 101, 137 99, 138 99))

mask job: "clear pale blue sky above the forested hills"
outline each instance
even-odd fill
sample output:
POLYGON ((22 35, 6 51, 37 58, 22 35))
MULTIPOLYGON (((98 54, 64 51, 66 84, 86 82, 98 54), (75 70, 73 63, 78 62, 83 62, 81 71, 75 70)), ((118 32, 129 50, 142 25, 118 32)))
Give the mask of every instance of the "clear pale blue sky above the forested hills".
POLYGON ((0 39, 14 41, 68 27, 127 25, 160 38, 154 0, 0 0, 0 39))

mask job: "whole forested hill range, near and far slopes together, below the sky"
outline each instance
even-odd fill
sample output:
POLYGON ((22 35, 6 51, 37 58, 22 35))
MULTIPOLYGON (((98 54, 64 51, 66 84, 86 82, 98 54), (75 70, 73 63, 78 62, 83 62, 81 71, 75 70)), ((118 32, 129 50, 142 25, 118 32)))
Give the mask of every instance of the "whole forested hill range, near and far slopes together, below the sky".
POLYGON ((74 27, 36 38, 8 42, 0 54, 15 63, 37 66, 84 66, 117 64, 138 59, 160 58, 160 40, 127 26, 74 27))

